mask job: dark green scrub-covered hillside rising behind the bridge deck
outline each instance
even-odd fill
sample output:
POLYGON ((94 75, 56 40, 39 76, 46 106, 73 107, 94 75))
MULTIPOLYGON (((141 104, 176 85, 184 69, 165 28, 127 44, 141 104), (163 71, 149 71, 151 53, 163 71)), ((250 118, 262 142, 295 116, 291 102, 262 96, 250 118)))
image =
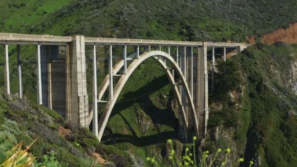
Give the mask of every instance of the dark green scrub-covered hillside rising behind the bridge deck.
POLYGON ((296 22, 295 1, 73 0, 30 32, 186 41, 245 41, 296 22))

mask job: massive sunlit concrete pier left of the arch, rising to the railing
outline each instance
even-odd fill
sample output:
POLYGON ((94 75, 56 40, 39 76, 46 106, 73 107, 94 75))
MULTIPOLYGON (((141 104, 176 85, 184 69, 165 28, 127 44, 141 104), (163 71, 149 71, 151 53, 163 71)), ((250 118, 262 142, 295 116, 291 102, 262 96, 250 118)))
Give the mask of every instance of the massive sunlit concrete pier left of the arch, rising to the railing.
POLYGON ((85 71, 85 37, 73 36, 68 46, 66 80, 66 120, 88 126, 88 95, 85 71))

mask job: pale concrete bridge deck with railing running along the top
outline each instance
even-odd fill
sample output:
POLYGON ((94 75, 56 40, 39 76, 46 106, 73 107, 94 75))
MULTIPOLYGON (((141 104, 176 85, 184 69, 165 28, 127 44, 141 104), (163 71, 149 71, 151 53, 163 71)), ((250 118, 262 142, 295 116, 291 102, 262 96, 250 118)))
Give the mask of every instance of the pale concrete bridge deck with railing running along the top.
MULTIPOLYGON (((74 37, 52 36, 52 35, 29 35, 29 34, 11 34, 0 33, 0 44, 50 44, 65 45, 73 41, 74 37)), ((118 38, 92 38, 85 37, 85 44, 93 45, 165 45, 165 46, 201 46, 202 42, 184 42, 184 41, 163 41, 163 40, 144 40, 144 39, 118 39, 118 38)), ((227 42, 207 42, 209 47, 238 47, 247 46, 245 43, 227 43, 227 42)))

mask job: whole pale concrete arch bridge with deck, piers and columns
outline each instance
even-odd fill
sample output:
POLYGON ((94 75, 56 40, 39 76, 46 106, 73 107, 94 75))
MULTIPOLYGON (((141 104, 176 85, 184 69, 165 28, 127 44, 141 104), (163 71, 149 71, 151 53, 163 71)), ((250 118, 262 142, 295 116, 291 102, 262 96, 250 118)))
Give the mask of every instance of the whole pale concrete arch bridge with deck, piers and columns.
MULTIPOLYGON (((17 45, 18 95, 23 98, 21 45, 36 46, 37 103, 59 112, 66 121, 88 127, 101 141, 108 118, 122 88, 133 71, 148 58, 154 58, 165 71, 179 106, 180 122, 185 129, 194 129, 199 139, 206 133, 209 117, 207 47, 212 47, 212 90, 215 56, 226 61, 226 48, 242 51, 244 43, 179 42, 138 39, 90 38, 84 36, 50 36, 0 33, 4 46, 4 83, 10 94, 9 45, 17 45), (89 109, 86 86, 85 46, 93 46, 92 107, 89 109), (66 48, 65 58, 59 59, 59 46, 66 48), (109 47, 108 75, 97 88, 97 46, 109 47), (122 59, 113 64, 113 46, 122 46, 122 59), (134 52, 127 55, 127 47, 134 52), (215 54, 222 48, 223 54, 215 54), (171 50, 171 52, 170 52, 171 50), (174 50, 174 54, 172 54, 174 50), (194 52, 197 53, 194 55, 194 52), (127 63, 131 62, 131 63, 127 63), (114 84, 114 78, 119 78, 114 84), (108 100, 103 95, 108 88, 108 100), (98 118, 98 104, 105 109, 98 118)), ((185 130, 187 131, 187 130, 185 130)))

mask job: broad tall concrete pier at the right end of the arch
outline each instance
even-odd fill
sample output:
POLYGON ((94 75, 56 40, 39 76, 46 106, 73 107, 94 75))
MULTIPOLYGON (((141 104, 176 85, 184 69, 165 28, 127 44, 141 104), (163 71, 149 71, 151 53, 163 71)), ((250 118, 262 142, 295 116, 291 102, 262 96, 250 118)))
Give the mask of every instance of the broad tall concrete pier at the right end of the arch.
POLYGON ((207 42, 198 49, 198 81, 197 81, 197 106, 199 124, 199 139, 202 139, 206 133, 208 121, 208 73, 207 73, 207 42))

